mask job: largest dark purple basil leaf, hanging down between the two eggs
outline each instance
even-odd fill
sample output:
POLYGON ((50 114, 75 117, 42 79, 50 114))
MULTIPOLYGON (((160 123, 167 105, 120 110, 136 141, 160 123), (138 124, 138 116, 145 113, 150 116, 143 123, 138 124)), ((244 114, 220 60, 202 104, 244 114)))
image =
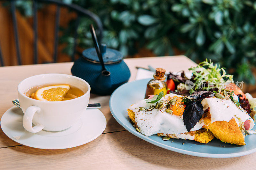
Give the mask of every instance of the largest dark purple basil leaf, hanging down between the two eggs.
POLYGON ((183 122, 188 132, 199 122, 203 114, 204 108, 200 101, 191 102, 186 106, 183 112, 183 122))

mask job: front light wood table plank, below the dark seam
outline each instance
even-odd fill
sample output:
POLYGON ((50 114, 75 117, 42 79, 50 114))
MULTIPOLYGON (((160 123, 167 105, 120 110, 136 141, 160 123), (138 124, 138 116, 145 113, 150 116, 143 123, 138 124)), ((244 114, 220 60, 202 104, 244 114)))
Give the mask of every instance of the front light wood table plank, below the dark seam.
POLYGON ((255 169, 251 154, 237 158, 202 158, 150 144, 128 131, 102 134, 88 144, 61 150, 28 146, 0 149, 3 169, 255 169))

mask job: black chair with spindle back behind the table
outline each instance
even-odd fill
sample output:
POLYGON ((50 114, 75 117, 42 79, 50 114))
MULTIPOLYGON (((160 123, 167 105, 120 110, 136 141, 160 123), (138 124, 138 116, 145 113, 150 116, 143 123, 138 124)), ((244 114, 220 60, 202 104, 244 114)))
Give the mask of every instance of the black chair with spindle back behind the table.
MULTIPOLYGON (((1 0, 0 0, 1 1, 1 0)), ((75 54, 76 54, 76 38, 77 38, 77 27, 79 25, 79 20, 82 16, 88 16, 92 18, 92 20, 96 23, 98 26, 98 31, 99 31, 99 41, 101 40, 102 37, 102 32, 103 32, 103 26, 100 21, 100 18, 92 13, 91 11, 88 11, 76 4, 65 4, 60 0, 32 0, 33 1, 33 30, 34 30, 34 64, 38 63, 38 54, 37 54, 37 4, 40 3, 47 3, 47 4, 56 4, 57 5, 57 10, 56 10, 56 19, 55 19, 55 29, 54 29, 54 52, 53 52, 53 62, 57 62, 57 47, 58 47, 58 41, 59 41, 59 21, 60 21, 60 7, 67 7, 71 11, 75 11, 77 13, 77 18, 76 18, 76 24, 75 24, 75 34, 74 34, 74 40, 75 44, 73 47, 73 54, 71 56, 72 61, 75 60, 75 54)), ((16 13, 15 13, 15 0, 10 0, 11 4, 11 14, 12 14, 12 22, 13 22, 13 31, 14 31, 14 38, 15 38, 15 46, 16 46, 16 51, 17 51, 17 61, 18 64, 21 65, 21 56, 20 56, 20 44, 19 44, 19 34, 18 34, 18 28, 17 28, 17 18, 16 18, 16 13)), ((3 61, 3 55, 1 52, 1 43, 0 43, 0 64, 1 66, 4 66, 4 61, 3 61)))

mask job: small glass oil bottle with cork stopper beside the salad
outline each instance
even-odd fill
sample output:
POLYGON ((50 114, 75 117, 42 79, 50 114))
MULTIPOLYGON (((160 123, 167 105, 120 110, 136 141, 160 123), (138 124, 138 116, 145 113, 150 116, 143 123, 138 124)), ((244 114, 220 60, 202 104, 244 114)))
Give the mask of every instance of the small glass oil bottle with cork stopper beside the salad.
POLYGON ((164 92, 164 95, 167 93, 167 85, 164 81, 166 76, 164 74, 165 74, 164 69, 156 68, 154 79, 148 82, 144 99, 148 99, 149 95, 156 95, 156 94, 159 94, 160 92, 164 92))

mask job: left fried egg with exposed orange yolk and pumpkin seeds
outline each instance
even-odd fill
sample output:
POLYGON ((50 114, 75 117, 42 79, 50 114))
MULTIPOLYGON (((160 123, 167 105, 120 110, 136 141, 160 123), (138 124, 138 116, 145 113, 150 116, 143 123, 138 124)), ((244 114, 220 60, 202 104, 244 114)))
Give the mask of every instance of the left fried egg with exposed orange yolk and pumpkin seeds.
MULTIPOLYGON (((180 134, 188 132, 182 120, 182 114, 186 106, 181 102, 181 97, 173 93, 166 94, 158 101, 159 103, 164 102, 164 106, 161 109, 140 110, 139 107, 149 108, 155 105, 155 103, 146 103, 146 100, 141 100, 128 109, 134 112, 135 122, 140 132, 146 136, 156 133, 180 134), (165 112, 165 109, 167 109, 166 105, 173 98, 177 99, 175 105, 169 108, 173 112, 167 113, 165 112)), ((199 121, 190 131, 201 129, 203 125, 204 123, 199 121)))

